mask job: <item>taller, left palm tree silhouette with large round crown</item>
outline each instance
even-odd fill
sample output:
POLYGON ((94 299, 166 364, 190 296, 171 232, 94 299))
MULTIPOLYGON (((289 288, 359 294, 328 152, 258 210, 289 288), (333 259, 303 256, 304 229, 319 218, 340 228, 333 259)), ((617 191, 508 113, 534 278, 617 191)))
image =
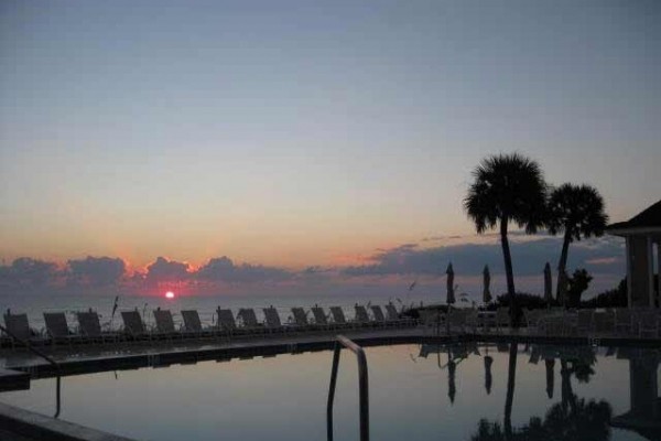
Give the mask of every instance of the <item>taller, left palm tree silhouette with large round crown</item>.
POLYGON ((507 237, 511 222, 537 233, 544 225, 546 184, 540 165, 519 153, 496 154, 484 159, 473 171, 475 181, 468 189, 464 207, 478 234, 500 226, 500 244, 505 259, 510 320, 516 319, 516 290, 507 237))

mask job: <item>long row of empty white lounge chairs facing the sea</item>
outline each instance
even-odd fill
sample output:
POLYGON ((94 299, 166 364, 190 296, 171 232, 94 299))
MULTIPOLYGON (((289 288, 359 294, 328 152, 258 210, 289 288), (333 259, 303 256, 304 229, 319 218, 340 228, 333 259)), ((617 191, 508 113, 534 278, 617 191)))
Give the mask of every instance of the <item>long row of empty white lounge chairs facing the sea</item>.
POLYGON ((20 342, 31 344, 74 344, 74 343, 106 343, 119 341, 151 341, 175 340, 191 337, 231 337, 250 336, 289 332, 335 331, 347 329, 410 326, 416 322, 400 318, 392 303, 384 306, 386 313, 379 305, 369 306, 356 304, 354 320, 347 320, 344 310, 330 306, 329 314, 318 305, 305 311, 303 308, 292 308, 291 322, 282 323, 278 310, 273 306, 263 309, 264 320, 259 321, 253 309, 240 309, 234 315, 230 309, 218 308, 217 320, 212 325, 203 325, 196 310, 181 311, 181 325, 176 326, 170 310, 153 311, 154 325, 148 326, 138 310, 122 311, 123 326, 120 330, 102 330, 99 314, 94 311, 77 312, 77 330, 72 331, 64 312, 44 313, 44 332, 31 330, 26 314, 4 314, 4 324, 9 335, 2 337, 2 345, 14 346, 20 342), (13 337, 12 337, 13 336, 13 337), (15 337, 15 338, 14 338, 15 337))

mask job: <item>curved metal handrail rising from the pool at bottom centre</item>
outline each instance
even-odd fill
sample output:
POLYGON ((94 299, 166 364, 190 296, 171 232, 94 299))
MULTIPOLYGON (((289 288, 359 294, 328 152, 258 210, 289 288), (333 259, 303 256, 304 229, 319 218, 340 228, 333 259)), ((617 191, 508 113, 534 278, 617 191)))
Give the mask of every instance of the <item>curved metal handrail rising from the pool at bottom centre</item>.
POLYGON ((358 358, 358 394, 360 400, 360 441, 369 441, 369 385, 367 376, 367 357, 362 347, 351 342, 344 335, 337 335, 333 351, 333 370, 330 372, 330 386, 328 389, 328 405, 326 407, 326 431, 328 441, 333 441, 333 401, 335 399, 335 385, 337 383, 337 368, 339 367, 339 353, 346 347, 358 358))

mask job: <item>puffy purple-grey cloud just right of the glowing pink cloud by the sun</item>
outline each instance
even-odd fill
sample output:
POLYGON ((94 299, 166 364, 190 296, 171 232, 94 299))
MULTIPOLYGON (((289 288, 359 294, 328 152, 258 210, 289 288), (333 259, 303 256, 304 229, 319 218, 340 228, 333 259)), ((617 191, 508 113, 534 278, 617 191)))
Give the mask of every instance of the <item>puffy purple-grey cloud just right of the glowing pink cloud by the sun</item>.
POLYGON ((195 278, 204 281, 225 281, 228 283, 273 282, 290 280, 293 273, 275 267, 261 265, 235 265, 230 258, 223 256, 210 259, 199 268, 195 278))

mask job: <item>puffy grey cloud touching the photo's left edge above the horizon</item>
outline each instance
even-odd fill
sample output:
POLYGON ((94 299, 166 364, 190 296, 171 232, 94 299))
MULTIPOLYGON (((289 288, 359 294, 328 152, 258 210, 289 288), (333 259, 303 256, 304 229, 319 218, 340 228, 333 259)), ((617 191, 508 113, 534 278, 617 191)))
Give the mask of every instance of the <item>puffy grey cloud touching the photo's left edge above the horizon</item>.
POLYGON ((61 273, 57 265, 44 260, 21 257, 0 270, 0 283, 7 287, 40 288, 57 282, 61 273))

